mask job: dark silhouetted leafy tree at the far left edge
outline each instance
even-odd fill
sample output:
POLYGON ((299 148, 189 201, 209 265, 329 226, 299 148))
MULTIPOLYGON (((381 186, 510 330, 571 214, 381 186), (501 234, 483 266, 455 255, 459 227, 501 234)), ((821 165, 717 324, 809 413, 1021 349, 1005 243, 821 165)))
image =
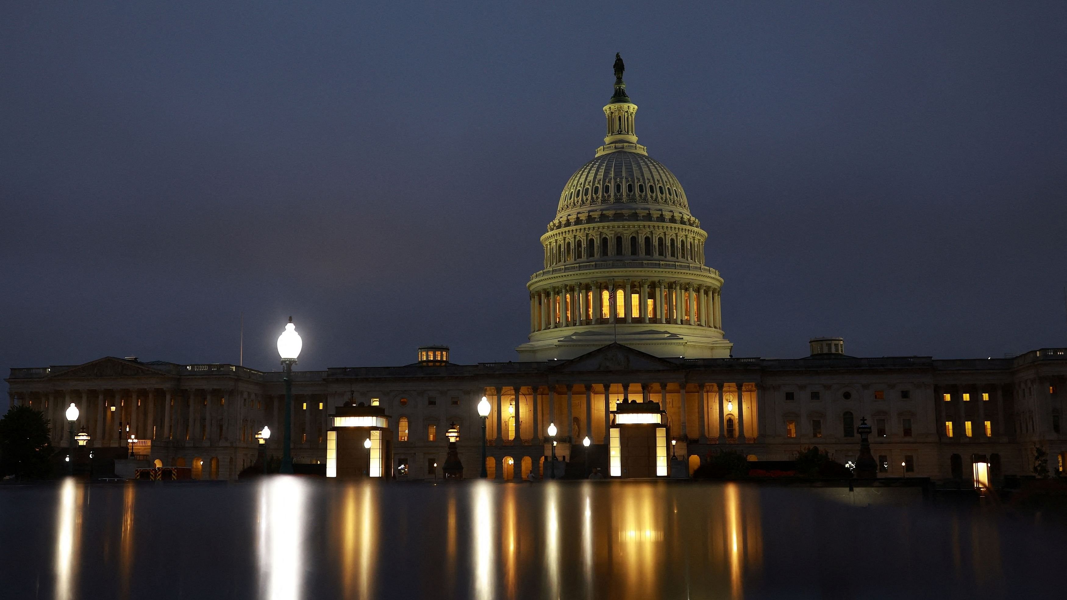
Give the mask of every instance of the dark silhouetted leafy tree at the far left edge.
POLYGON ((0 419, 0 475, 44 479, 51 474, 54 450, 45 413, 12 406, 0 419))

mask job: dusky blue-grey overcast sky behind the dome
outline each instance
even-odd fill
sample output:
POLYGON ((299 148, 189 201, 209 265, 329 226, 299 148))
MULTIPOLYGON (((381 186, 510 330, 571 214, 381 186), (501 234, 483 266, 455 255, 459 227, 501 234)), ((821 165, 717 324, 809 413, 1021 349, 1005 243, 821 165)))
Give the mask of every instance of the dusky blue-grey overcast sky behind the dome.
POLYGON ((0 7, 4 374, 516 359, 615 52, 735 356, 1067 345, 1064 2, 160 4, 0 7))

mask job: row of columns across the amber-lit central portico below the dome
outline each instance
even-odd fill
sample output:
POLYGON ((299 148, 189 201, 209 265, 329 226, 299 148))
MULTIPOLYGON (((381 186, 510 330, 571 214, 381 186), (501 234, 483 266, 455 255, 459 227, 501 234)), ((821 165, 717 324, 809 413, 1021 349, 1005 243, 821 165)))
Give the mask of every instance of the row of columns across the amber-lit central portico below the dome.
MULTIPOLYGON (((562 429, 566 433, 561 435, 561 437, 563 437, 564 439, 568 438, 568 437, 571 437, 571 433, 572 433, 571 427, 572 427, 572 423, 574 422, 574 413, 573 413, 573 411, 574 411, 574 395, 573 394, 574 394, 576 388, 578 388, 580 386, 580 387, 584 388, 584 391, 585 391, 585 412, 586 412, 585 435, 587 437, 589 437, 589 439, 591 441, 595 442, 595 440, 593 439, 593 428, 592 428, 592 424, 593 424, 593 386, 594 385, 596 385, 596 384, 570 384, 570 385, 566 385, 566 388, 567 388, 567 421, 566 421, 567 428, 562 429)), ((602 392, 603 402, 604 402, 604 436, 603 436, 603 438, 601 440, 602 443, 607 443, 608 429, 610 429, 610 427, 611 427, 611 423, 610 423, 611 415, 610 415, 610 411, 611 411, 612 406, 610 404, 610 396, 611 396, 611 386, 612 385, 620 385, 621 388, 622 388, 622 393, 620 394, 621 398, 619 400, 620 402, 627 402, 627 401, 632 400, 631 399, 631 394, 630 394, 631 384, 609 384, 609 383, 608 384, 600 384, 600 386, 604 390, 602 392)), ((651 387, 652 387, 652 384, 641 383, 639 385, 641 387, 641 396, 640 396, 641 402, 650 402, 650 401, 652 401, 652 402, 658 402, 659 406, 660 406, 660 409, 666 410, 666 407, 667 407, 667 384, 658 384, 659 385, 659 398, 658 399, 652 398, 652 392, 650 391, 651 387)), ((697 415, 698 415, 698 419, 697 419, 697 423, 698 423, 697 434, 698 434, 698 439, 702 443, 704 443, 704 442, 707 441, 706 421, 707 421, 708 410, 707 410, 705 398, 706 398, 706 393, 710 391, 708 387, 714 387, 715 388, 715 391, 712 392, 712 393, 715 393, 715 395, 716 395, 716 402, 718 403, 718 411, 717 411, 718 412, 718 417, 719 417, 719 423, 718 423, 718 425, 719 425, 718 426, 719 435, 718 435, 718 440, 719 440, 720 443, 727 443, 729 441, 729 439, 727 437, 727 418, 728 418, 727 413, 728 413, 728 410, 727 410, 727 407, 726 407, 727 401, 726 401, 726 389, 724 389, 727 385, 729 385, 729 384, 727 384, 727 383, 697 384, 697 386, 699 388, 699 391, 697 392, 697 403, 698 403, 698 406, 697 406, 697 415)), ((735 399, 736 399, 737 406, 735 408, 733 408, 732 410, 730 410, 729 412, 731 413, 731 416, 732 415, 736 415, 737 419, 736 419, 736 424, 735 424, 735 436, 734 436, 734 438, 731 438, 731 439, 736 439, 737 443, 746 443, 746 438, 747 437, 753 437, 753 438, 757 437, 757 431, 753 428, 751 436, 748 436, 747 432, 746 432, 746 427, 745 427, 746 409, 745 409, 745 401, 744 401, 744 392, 745 392, 744 385, 745 384, 743 384, 743 383, 734 383, 732 385, 735 387, 734 395, 735 395, 735 399)), ((679 435, 679 437, 682 437, 682 438, 685 438, 685 439, 689 439, 689 431, 688 431, 688 423, 687 423, 688 410, 687 410, 687 407, 686 407, 686 404, 687 404, 687 387, 688 387, 688 385, 685 384, 685 383, 680 383, 680 384, 678 384, 678 386, 679 386, 679 391, 680 391, 680 415, 681 415, 678 435, 679 435)), ((514 403, 515 403, 515 406, 514 406, 514 420, 515 420, 514 421, 514 438, 519 439, 519 440, 522 440, 522 396, 523 396, 522 388, 523 388, 523 386, 512 386, 512 393, 513 393, 514 403)), ((547 388, 548 388, 548 406, 550 406, 548 419, 550 419, 550 422, 555 423, 555 422, 557 422, 558 417, 561 417, 561 415, 556 415, 556 405, 557 405, 557 403, 556 403, 556 391, 557 391, 556 388, 557 388, 557 386, 547 386, 547 388)), ((505 396, 504 390, 506 388, 505 387, 491 387, 491 388, 488 388, 488 389, 491 390, 491 391, 487 395, 489 395, 490 398, 494 399, 492 402, 493 402, 494 407, 495 407, 496 440, 497 440, 496 443, 499 445, 499 444, 503 444, 504 440, 505 440, 505 437, 504 437, 504 415, 505 415, 505 411, 504 411, 504 408, 505 408, 504 407, 504 396, 505 396)), ((759 387, 757 387, 755 390, 750 390, 750 391, 755 391, 758 393, 759 392, 759 387)), ((543 427, 541 426, 541 423, 540 423, 540 412, 541 411, 538 409, 538 399, 540 398, 540 395, 541 395, 540 394, 540 386, 534 387, 532 390, 531 390, 531 393, 529 394, 529 399, 530 399, 529 400, 529 405, 531 407, 531 411, 530 412, 531 412, 531 417, 532 417, 532 421, 534 421, 534 423, 532 423, 532 425, 534 425, 532 426, 534 436, 530 439, 530 443, 534 443, 534 444, 539 443, 541 441, 541 439, 542 439, 541 438, 541 432, 542 432, 543 427)), ((547 425, 545 425, 545 427, 547 425)))

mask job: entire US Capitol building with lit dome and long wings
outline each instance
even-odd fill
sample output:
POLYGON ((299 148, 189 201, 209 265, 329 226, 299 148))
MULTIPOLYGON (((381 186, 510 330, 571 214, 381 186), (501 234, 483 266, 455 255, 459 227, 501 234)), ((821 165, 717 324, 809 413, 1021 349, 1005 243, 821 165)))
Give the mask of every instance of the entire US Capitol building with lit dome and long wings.
MULTIPOLYGON (((707 233, 674 174, 638 144, 637 106, 618 58, 615 75, 604 144, 563 185, 541 236, 544 266, 527 283, 530 334, 519 361, 456 364, 446 346, 425 346, 411 364, 293 372, 294 461, 324 463, 332 416, 362 403, 387 418, 382 472, 440 476, 455 424, 465 476, 477 476, 484 395, 487 470, 497 480, 540 471, 550 424, 559 432, 557 456, 579 461, 578 473, 606 466, 612 419, 632 401, 656 403, 671 453, 690 472, 723 450, 781 460, 818 445, 855 460, 861 419, 886 475, 969 480, 974 461, 988 461, 994 477, 1028 474, 1035 447, 1062 471, 1064 348, 857 358, 841 338, 816 338, 802 358, 733 357, 723 278, 705 262, 707 233)), ((45 411, 55 444, 68 442, 63 412, 73 402, 91 448, 125 448, 132 435, 158 466, 236 479, 255 461, 264 425, 275 432, 267 451, 281 455, 282 375, 105 357, 12 369, 6 382, 13 405, 45 411)))

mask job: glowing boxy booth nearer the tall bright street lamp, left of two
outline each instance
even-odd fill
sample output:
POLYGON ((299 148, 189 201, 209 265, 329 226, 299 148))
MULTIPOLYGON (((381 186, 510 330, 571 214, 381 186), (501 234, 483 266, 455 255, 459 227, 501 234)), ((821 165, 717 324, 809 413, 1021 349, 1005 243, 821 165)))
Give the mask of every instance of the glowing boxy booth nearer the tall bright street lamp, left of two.
POLYGON ((346 402, 330 419, 328 477, 393 477, 393 432, 383 407, 346 402))

